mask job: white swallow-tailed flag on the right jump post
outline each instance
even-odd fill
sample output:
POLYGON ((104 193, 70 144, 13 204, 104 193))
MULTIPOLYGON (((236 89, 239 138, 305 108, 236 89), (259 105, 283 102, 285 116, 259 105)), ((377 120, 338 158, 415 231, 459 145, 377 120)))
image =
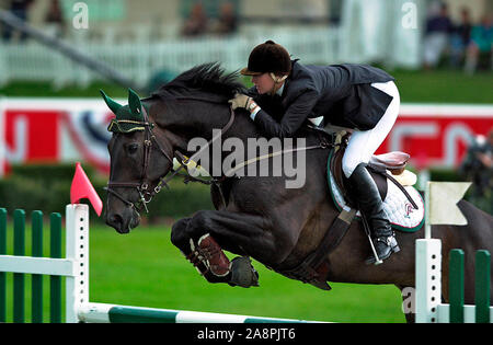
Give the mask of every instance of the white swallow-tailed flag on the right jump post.
POLYGON ((466 226, 468 220, 457 203, 470 185, 470 182, 428 182, 429 225, 466 226))

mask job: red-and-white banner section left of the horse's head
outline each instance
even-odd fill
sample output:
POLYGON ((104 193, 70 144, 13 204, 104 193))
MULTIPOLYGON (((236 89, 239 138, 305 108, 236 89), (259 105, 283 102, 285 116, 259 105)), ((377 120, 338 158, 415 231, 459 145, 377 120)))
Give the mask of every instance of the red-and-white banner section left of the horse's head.
POLYGON ((113 116, 98 99, 0 100, 0 175, 11 164, 74 161, 107 173, 106 127, 113 116))

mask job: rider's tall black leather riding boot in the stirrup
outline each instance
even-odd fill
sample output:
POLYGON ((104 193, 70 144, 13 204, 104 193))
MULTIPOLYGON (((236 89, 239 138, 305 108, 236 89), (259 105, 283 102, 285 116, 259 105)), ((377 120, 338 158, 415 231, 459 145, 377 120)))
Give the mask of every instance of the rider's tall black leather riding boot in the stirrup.
MULTIPOLYGON (((368 220, 371 240, 378 258, 386 260, 392 253, 399 252, 394 233, 383 210, 383 203, 378 193, 374 179, 366 170, 366 164, 360 163, 349 177, 353 198, 358 203, 359 210, 368 220)), ((365 261, 367 264, 375 263, 375 255, 365 261)))

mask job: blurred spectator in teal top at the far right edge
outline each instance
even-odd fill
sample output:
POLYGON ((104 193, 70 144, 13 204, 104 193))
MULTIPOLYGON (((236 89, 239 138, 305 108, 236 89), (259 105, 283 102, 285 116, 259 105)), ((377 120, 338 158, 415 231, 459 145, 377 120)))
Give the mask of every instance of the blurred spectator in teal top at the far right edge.
MULTIPOLYGON (((492 14, 484 15, 481 24, 474 25, 471 31, 471 42, 467 48, 465 70, 468 74, 473 74, 478 68, 481 56, 485 56, 489 61, 493 54, 493 26, 492 14)), ((493 67, 492 67, 493 68, 493 67)))

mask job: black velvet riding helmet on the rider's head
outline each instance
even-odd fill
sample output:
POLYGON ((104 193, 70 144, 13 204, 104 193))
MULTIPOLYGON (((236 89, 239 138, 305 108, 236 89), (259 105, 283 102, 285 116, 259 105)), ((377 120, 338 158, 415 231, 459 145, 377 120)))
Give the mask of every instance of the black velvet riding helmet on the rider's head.
POLYGON ((243 76, 259 76, 266 72, 287 76, 291 71, 289 53, 274 41, 267 41, 253 48, 249 57, 249 66, 240 73, 243 76))

